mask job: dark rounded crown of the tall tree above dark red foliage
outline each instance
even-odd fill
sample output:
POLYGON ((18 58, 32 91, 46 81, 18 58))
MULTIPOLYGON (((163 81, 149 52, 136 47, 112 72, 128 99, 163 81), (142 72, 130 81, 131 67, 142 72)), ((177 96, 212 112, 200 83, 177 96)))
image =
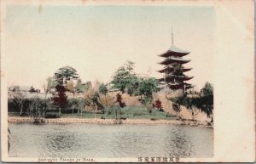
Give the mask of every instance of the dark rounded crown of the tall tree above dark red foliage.
POLYGON ((55 72, 55 81, 58 82, 59 85, 65 86, 67 82, 72 79, 78 79, 79 75, 75 69, 71 66, 61 67, 58 71, 55 72))

